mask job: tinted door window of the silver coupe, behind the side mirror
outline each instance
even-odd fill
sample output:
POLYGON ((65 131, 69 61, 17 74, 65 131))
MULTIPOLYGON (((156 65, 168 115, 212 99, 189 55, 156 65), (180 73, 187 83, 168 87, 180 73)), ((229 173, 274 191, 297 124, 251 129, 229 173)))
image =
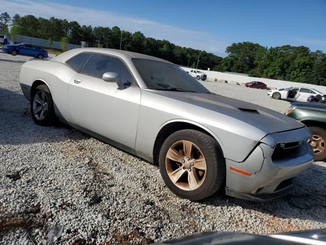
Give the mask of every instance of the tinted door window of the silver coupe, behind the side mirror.
POLYGON ((127 66, 120 59, 112 56, 93 54, 82 69, 83 74, 98 78, 102 78, 105 72, 117 72, 123 83, 134 83, 127 66))

